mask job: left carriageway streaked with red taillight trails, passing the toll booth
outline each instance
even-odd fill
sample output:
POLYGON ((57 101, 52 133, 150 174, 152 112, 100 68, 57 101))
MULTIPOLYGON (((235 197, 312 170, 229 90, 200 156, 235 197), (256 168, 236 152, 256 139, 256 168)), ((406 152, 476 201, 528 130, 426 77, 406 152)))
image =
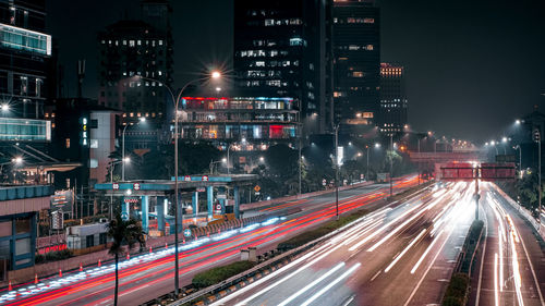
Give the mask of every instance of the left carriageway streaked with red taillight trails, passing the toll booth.
MULTIPOLYGON (((415 185, 415 176, 396 182, 401 191, 415 185)), ((370 185, 340 192, 339 211, 349 212, 362 207, 384 206, 387 184, 370 185)), ((328 194, 298 203, 280 204, 272 211, 300 207, 298 213, 271 218, 259 224, 199 238, 181 246, 180 283, 189 284, 197 272, 239 259, 241 248, 255 246, 258 252, 276 247, 279 241, 335 218, 335 195, 328 194), (281 207, 278 209, 278 207, 281 207)), ((267 208, 264 208, 267 209, 267 208)), ((135 256, 120 264, 120 305, 137 305, 173 290, 173 247, 135 256)), ((38 284, 0 292, 0 304, 9 305, 111 305, 114 274, 113 265, 102 265, 83 272, 64 273, 40 280, 38 284)))

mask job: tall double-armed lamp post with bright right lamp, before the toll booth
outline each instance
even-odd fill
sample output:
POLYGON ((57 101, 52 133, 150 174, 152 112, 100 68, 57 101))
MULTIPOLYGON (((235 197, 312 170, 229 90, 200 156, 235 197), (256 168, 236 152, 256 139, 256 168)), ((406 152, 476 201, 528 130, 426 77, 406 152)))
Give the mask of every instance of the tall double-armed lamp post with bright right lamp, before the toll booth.
MULTIPOLYGON (((170 86, 168 86, 164 82, 155 79, 155 78, 140 76, 140 78, 155 81, 155 82, 162 84, 168 89, 170 97, 172 98, 172 102, 174 102, 174 295, 175 296, 178 296, 178 294, 180 292, 180 281, 179 281, 179 278, 180 278, 179 265, 180 264, 178 262, 178 203, 179 203, 179 199, 178 199, 178 194, 179 194, 179 191, 178 191, 178 136, 179 136, 178 135, 178 118, 179 118, 178 106, 180 102, 180 98, 182 97, 182 94, 185 90, 185 88, 187 88, 187 86, 190 86, 193 83, 199 82, 199 81, 205 81, 205 79, 209 79, 209 78, 219 78, 219 77, 221 77, 221 74, 218 71, 214 71, 207 77, 199 77, 199 78, 195 78, 193 81, 190 81, 182 87, 182 89, 180 89, 180 91, 178 93, 178 96, 174 96, 174 91, 172 90, 172 88, 170 88, 170 86)), ((228 169, 229 169, 229 167, 228 167, 228 169)), ((182 221, 182 230, 183 230, 183 215, 182 215, 181 221, 182 221)))

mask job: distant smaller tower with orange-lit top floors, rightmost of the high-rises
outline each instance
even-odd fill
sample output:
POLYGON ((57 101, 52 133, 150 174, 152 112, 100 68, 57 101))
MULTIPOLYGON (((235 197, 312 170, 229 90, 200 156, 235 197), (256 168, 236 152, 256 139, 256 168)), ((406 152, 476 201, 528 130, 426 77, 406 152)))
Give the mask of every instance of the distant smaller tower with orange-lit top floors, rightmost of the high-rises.
POLYGON ((386 135, 403 132, 407 124, 407 96, 402 65, 380 64, 380 111, 377 123, 386 135))

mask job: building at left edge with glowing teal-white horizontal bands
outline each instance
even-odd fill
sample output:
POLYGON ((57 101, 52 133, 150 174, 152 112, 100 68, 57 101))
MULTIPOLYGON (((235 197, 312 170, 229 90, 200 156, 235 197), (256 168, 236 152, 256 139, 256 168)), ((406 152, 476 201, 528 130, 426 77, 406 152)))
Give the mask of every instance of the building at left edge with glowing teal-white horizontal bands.
POLYGON ((0 162, 21 155, 17 148, 41 149, 51 140, 44 120, 50 58, 45 1, 0 1, 0 162))

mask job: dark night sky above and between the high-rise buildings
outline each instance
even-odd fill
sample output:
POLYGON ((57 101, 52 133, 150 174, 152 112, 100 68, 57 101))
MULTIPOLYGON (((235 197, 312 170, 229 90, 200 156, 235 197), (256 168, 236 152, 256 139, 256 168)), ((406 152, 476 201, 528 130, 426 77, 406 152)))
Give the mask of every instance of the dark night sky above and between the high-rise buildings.
MULTIPOLYGON (((87 60, 84 95, 98 96, 96 34, 137 0, 48 1, 66 87, 87 60)), ((232 60, 233 0, 172 1, 174 82, 232 60)), ((409 122, 449 137, 484 140, 534 105, 545 112, 545 1, 383 0, 382 61, 405 66, 409 122)), ((66 94, 66 91, 65 91, 66 94)))

